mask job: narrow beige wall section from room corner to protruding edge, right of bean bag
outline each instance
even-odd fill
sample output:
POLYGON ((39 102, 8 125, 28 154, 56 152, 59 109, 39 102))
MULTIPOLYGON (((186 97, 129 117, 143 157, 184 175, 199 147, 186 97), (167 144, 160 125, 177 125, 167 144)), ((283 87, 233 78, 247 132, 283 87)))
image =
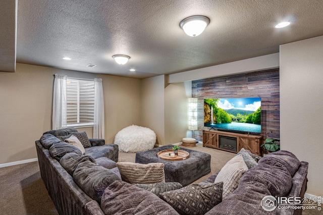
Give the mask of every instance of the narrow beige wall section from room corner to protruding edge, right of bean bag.
POLYGON ((156 133, 157 145, 165 145, 164 88, 164 75, 141 80, 141 126, 156 133))

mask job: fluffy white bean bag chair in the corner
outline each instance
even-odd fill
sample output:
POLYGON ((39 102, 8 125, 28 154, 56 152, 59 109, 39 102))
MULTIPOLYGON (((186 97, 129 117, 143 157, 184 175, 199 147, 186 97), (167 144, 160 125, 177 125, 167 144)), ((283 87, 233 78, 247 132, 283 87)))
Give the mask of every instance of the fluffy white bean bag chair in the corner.
POLYGON ((115 136, 119 152, 142 152, 151 150, 156 142, 153 130, 138 125, 130 125, 120 130, 115 136))

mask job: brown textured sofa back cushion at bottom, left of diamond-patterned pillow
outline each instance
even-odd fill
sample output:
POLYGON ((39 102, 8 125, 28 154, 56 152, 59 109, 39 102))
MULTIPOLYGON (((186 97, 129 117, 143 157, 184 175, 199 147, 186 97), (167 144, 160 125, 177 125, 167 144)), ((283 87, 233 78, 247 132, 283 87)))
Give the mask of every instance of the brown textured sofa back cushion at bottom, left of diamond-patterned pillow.
POLYGON ((101 209, 104 214, 178 214, 155 194, 124 181, 115 181, 104 190, 101 209))

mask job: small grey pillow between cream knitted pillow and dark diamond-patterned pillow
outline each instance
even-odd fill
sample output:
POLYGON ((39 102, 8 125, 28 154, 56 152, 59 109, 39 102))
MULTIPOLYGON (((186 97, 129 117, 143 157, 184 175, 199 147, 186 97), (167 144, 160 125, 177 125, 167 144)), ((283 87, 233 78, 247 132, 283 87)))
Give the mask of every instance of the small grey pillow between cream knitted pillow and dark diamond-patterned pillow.
POLYGON ((171 190, 177 190, 183 187, 178 182, 160 182, 160 183, 153 183, 153 184, 135 184, 135 185, 144 190, 152 192, 158 197, 160 193, 171 191, 171 190))

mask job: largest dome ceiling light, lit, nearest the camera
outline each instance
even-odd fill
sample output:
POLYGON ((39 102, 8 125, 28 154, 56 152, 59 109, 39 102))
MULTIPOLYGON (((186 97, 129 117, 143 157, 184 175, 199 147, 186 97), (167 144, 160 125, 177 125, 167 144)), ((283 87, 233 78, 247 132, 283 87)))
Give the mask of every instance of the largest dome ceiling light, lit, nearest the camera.
POLYGON ((210 19, 204 16, 188 17, 180 22, 180 27, 191 37, 200 35, 206 26, 210 23, 210 19))

